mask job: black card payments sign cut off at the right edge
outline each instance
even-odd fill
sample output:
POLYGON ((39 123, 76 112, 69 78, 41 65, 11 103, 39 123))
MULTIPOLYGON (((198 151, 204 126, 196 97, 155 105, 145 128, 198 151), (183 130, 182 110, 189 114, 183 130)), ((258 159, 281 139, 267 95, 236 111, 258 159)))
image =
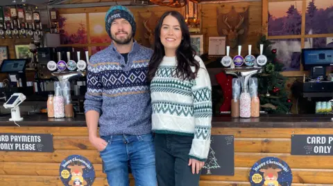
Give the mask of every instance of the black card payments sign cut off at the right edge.
POLYGON ((332 156, 333 135, 292 135, 291 155, 332 156))

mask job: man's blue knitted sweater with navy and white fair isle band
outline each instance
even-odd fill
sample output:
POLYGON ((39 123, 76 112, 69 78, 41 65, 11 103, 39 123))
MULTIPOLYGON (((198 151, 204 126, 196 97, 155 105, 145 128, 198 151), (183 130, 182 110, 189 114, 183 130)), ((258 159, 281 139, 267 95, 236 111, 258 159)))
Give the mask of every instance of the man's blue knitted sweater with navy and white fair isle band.
POLYGON ((85 113, 99 112, 99 135, 151 132, 151 94, 146 76, 153 50, 135 41, 128 62, 111 44, 89 59, 85 113))

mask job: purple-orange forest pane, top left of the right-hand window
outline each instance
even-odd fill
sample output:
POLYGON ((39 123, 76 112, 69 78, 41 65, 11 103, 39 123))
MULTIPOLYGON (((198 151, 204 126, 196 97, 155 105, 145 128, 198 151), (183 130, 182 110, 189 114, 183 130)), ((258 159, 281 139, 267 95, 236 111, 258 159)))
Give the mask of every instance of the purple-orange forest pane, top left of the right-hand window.
POLYGON ((300 35, 302 1, 268 3, 268 36, 300 35))

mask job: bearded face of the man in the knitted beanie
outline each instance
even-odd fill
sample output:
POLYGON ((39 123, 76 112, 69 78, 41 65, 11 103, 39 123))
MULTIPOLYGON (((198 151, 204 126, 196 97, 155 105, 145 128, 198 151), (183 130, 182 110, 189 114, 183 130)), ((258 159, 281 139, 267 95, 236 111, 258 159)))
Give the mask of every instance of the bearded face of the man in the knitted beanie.
POLYGON ((133 39, 132 26, 123 18, 114 19, 110 28, 111 39, 117 44, 129 44, 133 39))

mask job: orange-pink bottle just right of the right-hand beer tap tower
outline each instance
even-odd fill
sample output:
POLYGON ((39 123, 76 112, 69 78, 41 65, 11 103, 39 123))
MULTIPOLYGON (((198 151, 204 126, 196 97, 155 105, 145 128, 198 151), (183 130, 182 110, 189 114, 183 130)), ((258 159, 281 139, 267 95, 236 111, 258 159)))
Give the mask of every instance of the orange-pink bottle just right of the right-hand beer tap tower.
POLYGON ((259 117, 260 100, 258 97, 257 78, 250 78, 250 96, 251 96, 251 117, 259 117))

